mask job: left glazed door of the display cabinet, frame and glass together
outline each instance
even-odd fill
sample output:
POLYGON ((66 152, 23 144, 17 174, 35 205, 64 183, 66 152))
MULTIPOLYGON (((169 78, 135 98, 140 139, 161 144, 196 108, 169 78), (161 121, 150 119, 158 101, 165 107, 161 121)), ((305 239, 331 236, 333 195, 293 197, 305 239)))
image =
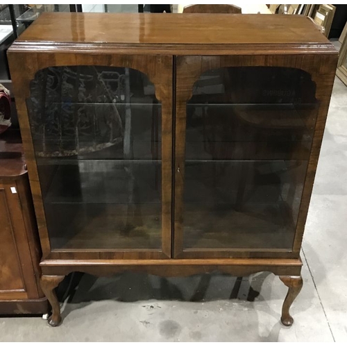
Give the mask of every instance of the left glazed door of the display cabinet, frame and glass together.
POLYGON ((29 54, 25 76, 20 60, 44 256, 171 257, 172 57, 29 54))

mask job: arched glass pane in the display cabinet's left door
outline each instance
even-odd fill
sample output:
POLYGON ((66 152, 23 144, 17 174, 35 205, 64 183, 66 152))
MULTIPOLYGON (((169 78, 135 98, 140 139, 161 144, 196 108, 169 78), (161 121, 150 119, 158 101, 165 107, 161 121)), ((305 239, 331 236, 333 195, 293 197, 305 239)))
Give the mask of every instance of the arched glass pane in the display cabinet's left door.
POLYGON ((27 100, 57 248, 161 248, 161 105, 141 72, 50 67, 27 100))

